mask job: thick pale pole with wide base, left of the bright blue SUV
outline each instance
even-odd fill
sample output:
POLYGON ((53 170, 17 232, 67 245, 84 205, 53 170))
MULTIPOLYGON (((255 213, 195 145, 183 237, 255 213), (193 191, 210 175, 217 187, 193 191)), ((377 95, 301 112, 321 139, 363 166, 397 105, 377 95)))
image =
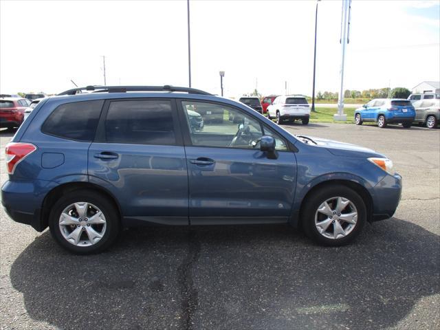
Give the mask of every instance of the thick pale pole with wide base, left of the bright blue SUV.
POLYGON ((334 120, 346 121, 347 114, 344 113, 344 61, 345 61, 345 48, 347 47, 350 33, 350 10, 351 10, 351 0, 342 0, 342 17, 341 17, 341 71, 340 80, 341 86, 339 91, 338 99, 338 113, 333 115, 334 120))

